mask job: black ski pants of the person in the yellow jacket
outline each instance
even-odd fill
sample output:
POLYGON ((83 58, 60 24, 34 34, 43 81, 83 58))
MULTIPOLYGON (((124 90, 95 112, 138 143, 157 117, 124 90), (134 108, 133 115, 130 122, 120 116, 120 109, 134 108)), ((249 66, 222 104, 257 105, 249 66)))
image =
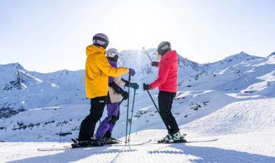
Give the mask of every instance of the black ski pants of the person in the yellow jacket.
POLYGON ((90 114, 81 122, 78 140, 85 141, 94 136, 94 128, 102 117, 106 105, 106 97, 91 98, 90 114))

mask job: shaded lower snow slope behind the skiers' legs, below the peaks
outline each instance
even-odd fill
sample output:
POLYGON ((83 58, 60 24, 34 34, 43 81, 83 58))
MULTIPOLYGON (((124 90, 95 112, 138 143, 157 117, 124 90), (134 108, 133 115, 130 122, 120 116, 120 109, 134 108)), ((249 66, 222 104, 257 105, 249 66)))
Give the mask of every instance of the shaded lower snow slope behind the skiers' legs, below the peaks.
MULTIPOLYGON (((155 91, 156 92, 156 91, 155 91)), ((157 96, 154 95, 157 102, 157 96)), ((179 124, 192 122, 209 115, 224 105, 236 101, 220 91, 179 92, 173 104, 173 114, 179 124), (219 96, 220 100, 215 98, 219 96)), ((125 135, 127 103, 121 105, 120 120, 116 123, 114 136, 125 135)), ((130 100, 130 106, 132 99, 130 100)), ((42 107, 20 112, 8 119, 0 120, 0 140, 4 141, 59 141, 62 124, 62 141, 78 136, 82 119, 89 113, 90 105, 61 105, 42 107)), ((104 112, 104 117, 106 112, 104 112)), ((135 98, 132 132, 145 129, 164 129, 159 113, 149 96, 139 92, 135 98)))

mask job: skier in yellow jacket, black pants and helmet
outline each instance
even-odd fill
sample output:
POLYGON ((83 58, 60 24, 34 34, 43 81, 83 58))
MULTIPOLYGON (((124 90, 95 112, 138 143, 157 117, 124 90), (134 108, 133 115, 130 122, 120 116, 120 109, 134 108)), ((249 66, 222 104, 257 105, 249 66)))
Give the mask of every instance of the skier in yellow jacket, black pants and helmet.
POLYGON ((98 141, 92 138, 94 127, 102 117, 108 95, 108 77, 118 77, 129 73, 135 75, 135 70, 125 67, 111 67, 105 53, 109 39, 105 34, 95 34, 93 44, 86 48, 85 87, 86 96, 90 98, 90 114, 81 122, 78 142, 72 145, 87 146, 98 141))

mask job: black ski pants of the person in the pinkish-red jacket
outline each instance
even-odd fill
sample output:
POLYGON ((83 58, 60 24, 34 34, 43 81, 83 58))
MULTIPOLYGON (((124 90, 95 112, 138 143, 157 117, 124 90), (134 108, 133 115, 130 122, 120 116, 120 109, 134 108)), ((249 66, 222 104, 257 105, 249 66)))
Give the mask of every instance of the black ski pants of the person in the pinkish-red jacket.
POLYGON ((173 98, 175 98, 176 93, 168 91, 159 91, 159 112, 164 124, 170 134, 179 131, 178 124, 175 117, 171 113, 173 98))

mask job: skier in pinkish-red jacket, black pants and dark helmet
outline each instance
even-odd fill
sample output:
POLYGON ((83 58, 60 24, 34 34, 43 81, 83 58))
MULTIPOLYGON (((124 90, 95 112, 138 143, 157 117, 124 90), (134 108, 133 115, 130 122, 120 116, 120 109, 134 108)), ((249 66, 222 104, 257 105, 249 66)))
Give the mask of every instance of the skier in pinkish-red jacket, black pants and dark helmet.
POLYGON ((176 119, 171 113, 173 98, 178 91, 178 55, 176 51, 171 51, 168 41, 161 42, 157 52, 161 60, 159 63, 152 62, 152 66, 159 67, 158 78, 151 84, 143 84, 143 89, 159 87, 159 112, 169 133, 159 143, 182 142, 185 141, 185 135, 181 135, 176 119))

